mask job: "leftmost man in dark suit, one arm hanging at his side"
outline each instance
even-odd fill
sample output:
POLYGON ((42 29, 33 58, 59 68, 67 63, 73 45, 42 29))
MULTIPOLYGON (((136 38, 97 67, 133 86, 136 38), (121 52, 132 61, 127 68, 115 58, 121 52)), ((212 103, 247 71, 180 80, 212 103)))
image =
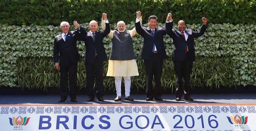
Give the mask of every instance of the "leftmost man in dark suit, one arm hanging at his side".
POLYGON ((76 37, 74 31, 69 31, 69 23, 61 22, 62 33, 54 38, 54 63, 58 70, 60 67, 61 100, 67 101, 69 80, 69 93, 72 102, 76 100, 77 62, 79 60, 78 49, 76 47, 76 37), (59 64, 60 63, 60 64, 59 64), (69 79, 68 79, 69 78, 69 79))

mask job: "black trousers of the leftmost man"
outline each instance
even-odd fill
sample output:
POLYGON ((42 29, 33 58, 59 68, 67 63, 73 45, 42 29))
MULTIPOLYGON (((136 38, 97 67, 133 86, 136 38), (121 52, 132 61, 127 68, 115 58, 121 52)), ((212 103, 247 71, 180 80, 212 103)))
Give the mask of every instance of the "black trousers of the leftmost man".
POLYGON ((77 81, 77 64, 69 64, 66 67, 60 67, 61 81, 60 92, 61 99, 67 99, 69 92, 70 99, 76 99, 76 81, 77 81), (68 91, 69 81, 69 91, 68 91))

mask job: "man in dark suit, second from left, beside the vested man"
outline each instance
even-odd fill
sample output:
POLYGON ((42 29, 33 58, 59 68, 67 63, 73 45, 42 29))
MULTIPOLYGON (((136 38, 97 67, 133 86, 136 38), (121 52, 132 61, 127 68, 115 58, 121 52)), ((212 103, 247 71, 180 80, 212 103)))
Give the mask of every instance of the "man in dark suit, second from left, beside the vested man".
POLYGON ((107 20, 107 14, 102 14, 102 20, 106 22, 106 30, 97 31, 98 23, 92 20, 89 23, 90 31, 81 27, 77 22, 74 22, 76 27, 75 34, 78 40, 85 41, 85 68, 86 68, 86 84, 87 84, 87 94, 89 96, 89 101, 94 101, 95 94, 93 92, 94 87, 94 73, 96 77, 96 97, 98 101, 103 102, 104 86, 103 86, 103 61, 107 60, 106 51, 103 45, 103 38, 107 36, 110 32, 110 25, 107 20))

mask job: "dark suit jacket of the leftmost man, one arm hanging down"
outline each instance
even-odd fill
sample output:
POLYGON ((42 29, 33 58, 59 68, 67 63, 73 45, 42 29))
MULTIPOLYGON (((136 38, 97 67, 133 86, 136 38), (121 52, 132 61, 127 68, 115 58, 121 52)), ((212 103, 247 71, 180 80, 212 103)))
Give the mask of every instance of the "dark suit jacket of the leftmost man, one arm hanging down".
MULTIPOLYGON (((62 32, 61 32, 62 33, 62 32)), ((59 62, 60 67, 77 64, 79 60, 78 49, 76 47, 76 37, 74 31, 67 33, 66 42, 62 39, 62 34, 54 38, 54 63, 59 62)))

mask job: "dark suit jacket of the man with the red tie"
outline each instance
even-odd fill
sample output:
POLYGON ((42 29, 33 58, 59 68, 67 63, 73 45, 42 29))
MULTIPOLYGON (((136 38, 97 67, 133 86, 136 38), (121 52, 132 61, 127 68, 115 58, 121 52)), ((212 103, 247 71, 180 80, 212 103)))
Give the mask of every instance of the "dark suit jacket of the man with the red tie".
POLYGON ((195 61, 195 48, 194 48, 194 39, 204 34, 208 25, 202 25, 201 29, 196 32, 191 29, 186 29, 184 32, 188 34, 187 41, 182 36, 180 30, 175 30, 173 28, 173 22, 166 24, 166 32, 173 39, 174 48, 173 54, 171 55, 171 60, 173 61, 182 61, 185 59, 186 45, 189 49, 189 60, 195 61))

